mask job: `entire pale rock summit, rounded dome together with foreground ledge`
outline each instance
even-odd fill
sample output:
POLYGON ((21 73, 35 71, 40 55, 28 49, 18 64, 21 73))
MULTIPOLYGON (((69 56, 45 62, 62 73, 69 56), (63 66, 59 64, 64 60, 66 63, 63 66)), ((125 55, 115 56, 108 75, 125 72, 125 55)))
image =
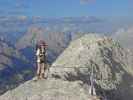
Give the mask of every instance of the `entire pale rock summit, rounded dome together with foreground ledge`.
POLYGON ((84 35, 56 59, 48 79, 30 80, 0 100, 132 100, 132 62, 130 51, 111 38, 84 35), (96 98, 89 92, 92 78, 96 98))

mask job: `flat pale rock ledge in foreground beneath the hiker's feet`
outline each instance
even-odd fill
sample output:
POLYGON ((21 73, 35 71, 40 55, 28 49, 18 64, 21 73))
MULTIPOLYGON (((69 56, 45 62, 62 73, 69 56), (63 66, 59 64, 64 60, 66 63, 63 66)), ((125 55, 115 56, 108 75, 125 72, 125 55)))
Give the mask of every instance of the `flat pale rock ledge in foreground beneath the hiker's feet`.
POLYGON ((87 100, 88 97, 81 81, 48 79, 26 82, 0 100, 87 100))

